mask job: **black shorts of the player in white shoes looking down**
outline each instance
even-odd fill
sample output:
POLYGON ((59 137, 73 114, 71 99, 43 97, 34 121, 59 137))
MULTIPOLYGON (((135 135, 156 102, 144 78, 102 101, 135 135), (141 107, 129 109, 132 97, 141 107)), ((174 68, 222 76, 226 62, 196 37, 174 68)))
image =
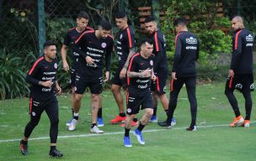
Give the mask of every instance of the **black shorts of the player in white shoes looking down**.
POLYGON ((77 94, 84 93, 85 89, 89 87, 91 94, 102 93, 103 75, 82 76, 77 74, 75 92, 77 94))

